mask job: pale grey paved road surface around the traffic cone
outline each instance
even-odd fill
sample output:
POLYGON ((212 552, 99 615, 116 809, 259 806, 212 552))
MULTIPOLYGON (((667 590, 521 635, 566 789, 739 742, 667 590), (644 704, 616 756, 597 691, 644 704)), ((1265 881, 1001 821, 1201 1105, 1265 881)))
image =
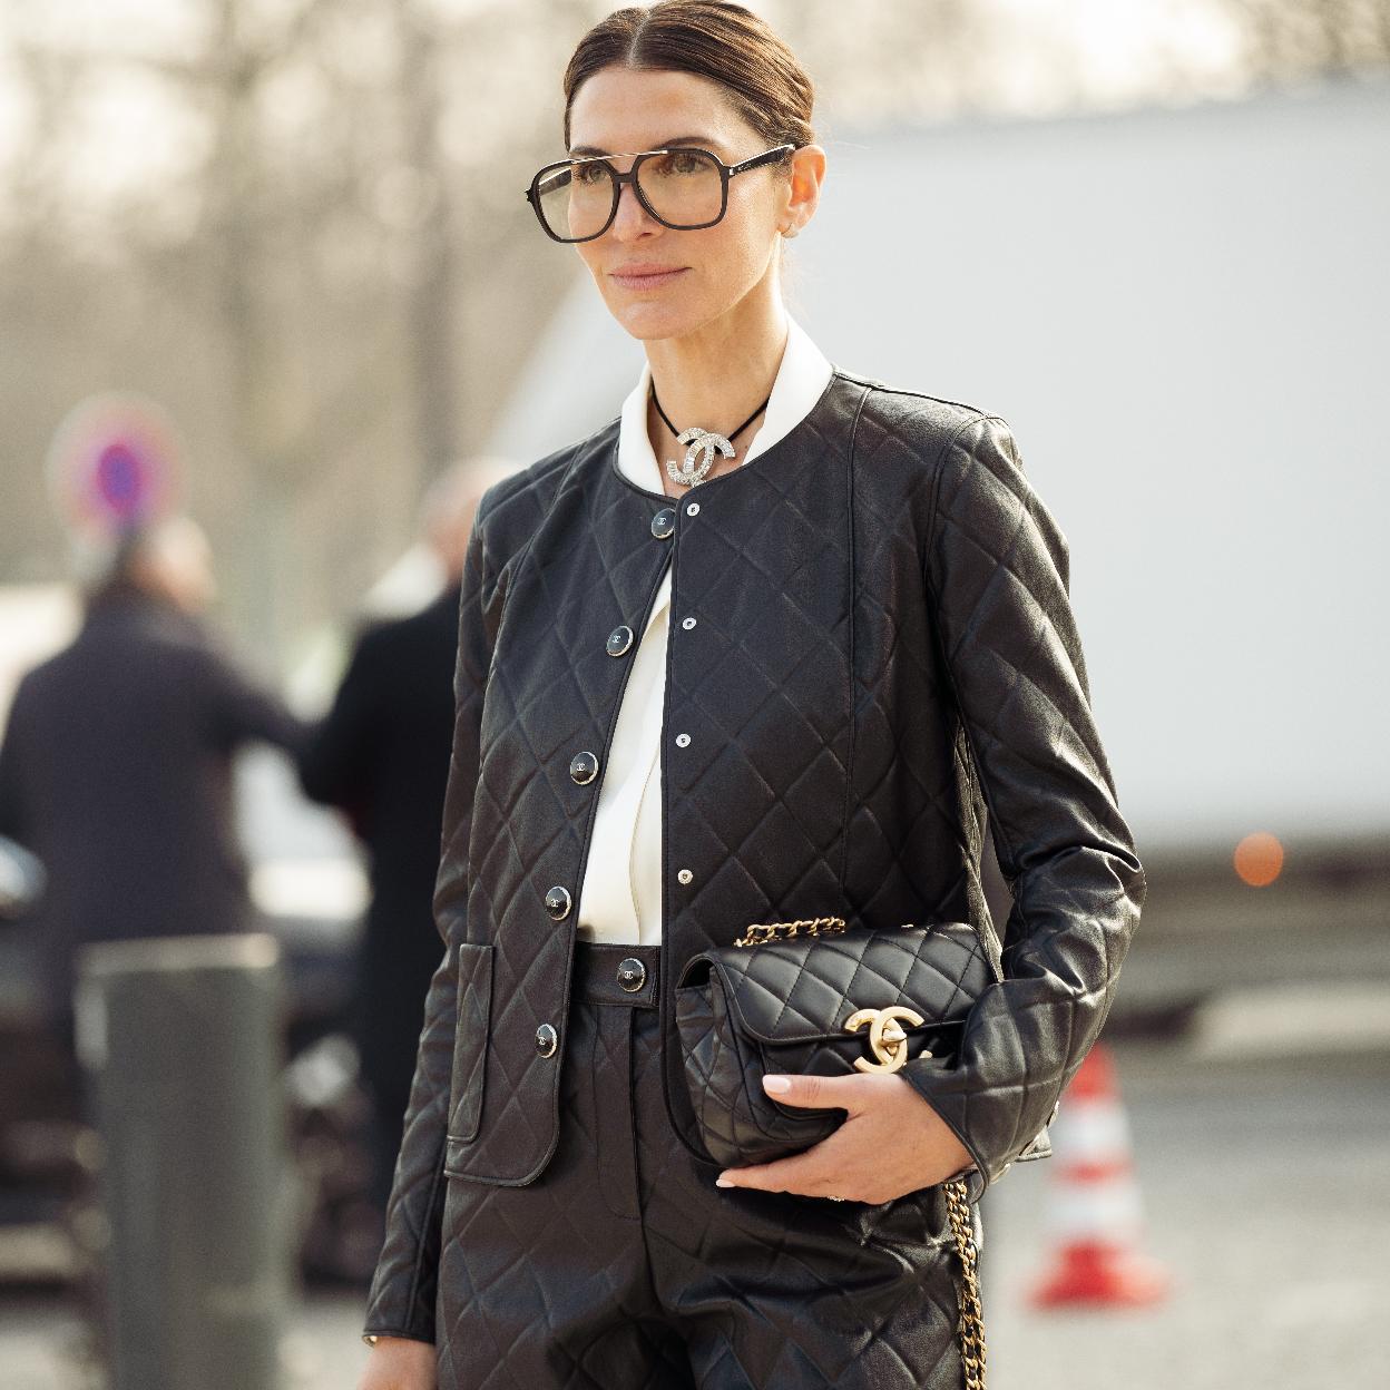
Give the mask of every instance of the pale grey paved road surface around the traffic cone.
MULTIPOLYGON (((986 1198, 991 1390, 1383 1390, 1390 1383, 1390 1049, 1300 1033, 1265 1008, 1237 1045, 1116 1045, 1148 1223, 1172 1270, 1161 1307, 1033 1314, 1052 1175, 986 1198), (1334 1045, 1336 1044, 1336 1045, 1334 1045), (1340 1049, 1339 1049, 1340 1047, 1340 1049)), ((286 1346, 286 1390, 353 1390, 357 1297, 317 1297, 286 1346)), ((0 1304, 6 1390, 76 1390, 71 1319, 0 1304)))

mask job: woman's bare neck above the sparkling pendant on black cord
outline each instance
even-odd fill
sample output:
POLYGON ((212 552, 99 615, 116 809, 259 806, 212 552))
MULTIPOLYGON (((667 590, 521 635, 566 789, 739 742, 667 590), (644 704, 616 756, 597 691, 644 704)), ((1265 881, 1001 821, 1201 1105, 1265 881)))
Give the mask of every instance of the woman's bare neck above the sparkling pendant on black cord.
MULTIPOLYGON (((662 409, 677 432, 699 425, 727 438, 767 399, 785 348, 787 316, 780 300, 749 297, 682 338, 651 339, 646 360, 662 409)), ((716 456, 710 477, 738 467, 760 424, 762 416, 734 439, 733 459, 716 456)), ((682 456, 684 445, 676 442, 652 402, 646 432, 657 460, 682 456)))

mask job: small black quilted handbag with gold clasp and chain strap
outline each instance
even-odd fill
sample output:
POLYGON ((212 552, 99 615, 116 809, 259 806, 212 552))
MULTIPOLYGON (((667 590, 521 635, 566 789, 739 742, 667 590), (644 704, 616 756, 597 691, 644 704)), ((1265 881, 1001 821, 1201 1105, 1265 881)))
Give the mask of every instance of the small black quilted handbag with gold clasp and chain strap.
MULTIPOLYGON (((676 1023, 699 1137, 720 1166, 799 1152, 844 1123, 841 1109, 783 1105, 767 1072, 897 1072, 909 1056, 956 1056, 966 1013, 995 974, 966 922, 847 931, 842 917, 751 926, 694 956, 676 1023)), ((963 1177, 945 1188, 960 1258, 960 1351, 984 1386, 977 1250, 963 1177)))

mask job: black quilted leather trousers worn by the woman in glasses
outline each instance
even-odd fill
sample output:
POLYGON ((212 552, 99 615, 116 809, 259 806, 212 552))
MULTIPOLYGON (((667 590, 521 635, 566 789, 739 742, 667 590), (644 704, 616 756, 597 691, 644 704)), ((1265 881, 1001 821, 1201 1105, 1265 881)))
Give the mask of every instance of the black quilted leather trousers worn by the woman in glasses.
POLYGON ((439 1390, 960 1390, 941 1188, 716 1187, 662 1099, 659 948, 575 954, 555 1158, 525 1187, 448 1184, 439 1390))

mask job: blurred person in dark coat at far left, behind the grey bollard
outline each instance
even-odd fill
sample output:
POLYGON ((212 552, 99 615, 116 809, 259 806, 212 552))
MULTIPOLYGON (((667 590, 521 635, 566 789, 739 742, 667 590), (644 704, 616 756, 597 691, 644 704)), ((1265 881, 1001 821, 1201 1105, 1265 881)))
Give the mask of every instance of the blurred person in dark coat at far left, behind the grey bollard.
POLYGON ((232 755, 292 755, 302 724, 202 617, 215 596, 188 517, 125 531, 70 646, 19 681, 0 742, 0 835, 38 855, 42 1002, 72 1054, 75 952, 90 941, 254 926, 232 755))

